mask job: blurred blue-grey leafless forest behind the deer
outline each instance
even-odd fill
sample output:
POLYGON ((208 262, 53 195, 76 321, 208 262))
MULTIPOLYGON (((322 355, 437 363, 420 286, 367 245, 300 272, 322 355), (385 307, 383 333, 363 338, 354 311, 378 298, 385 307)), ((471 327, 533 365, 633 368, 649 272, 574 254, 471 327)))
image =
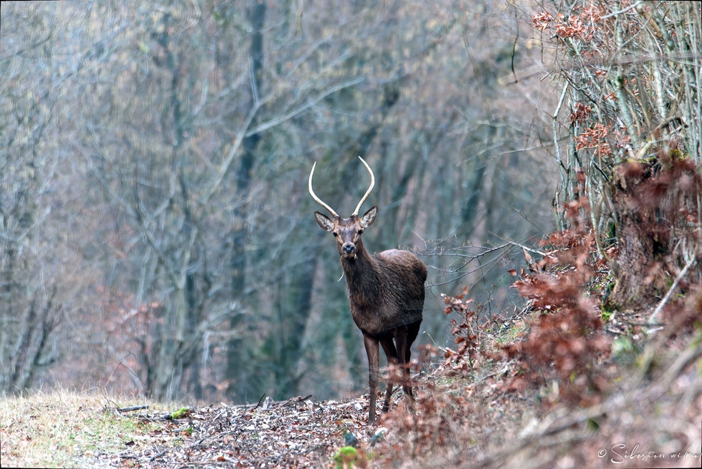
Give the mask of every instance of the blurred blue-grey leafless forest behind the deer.
POLYGON ((312 216, 314 161, 342 215, 369 162, 364 240, 428 264, 418 342, 439 345, 442 292, 522 306, 519 245, 561 226, 576 167, 600 170, 564 156, 582 88, 552 74, 553 18, 540 29, 533 1, 0 8, 2 393, 357 392, 367 364, 312 216))

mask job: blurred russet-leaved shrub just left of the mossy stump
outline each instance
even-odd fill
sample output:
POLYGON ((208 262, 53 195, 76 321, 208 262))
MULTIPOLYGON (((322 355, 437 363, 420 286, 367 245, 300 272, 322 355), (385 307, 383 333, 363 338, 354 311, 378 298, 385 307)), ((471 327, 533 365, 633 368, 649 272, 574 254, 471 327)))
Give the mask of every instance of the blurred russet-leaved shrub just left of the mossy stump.
POLYGON ((505 346, 497 356, 517 360, 506 390, 541 388, 555 381, 551 400, 592 405, 600 400, 606 383, 597 362, 609 353, 611 343, 604 334, 596 296, 588 292, 599 280, 603 262, 597 257, 586 198, 564 210, 571 229, 549 236, 543 242, 551 248, 547 255, 534 272, 522 271, 514 285, 540 314, 525 337, 505 346))

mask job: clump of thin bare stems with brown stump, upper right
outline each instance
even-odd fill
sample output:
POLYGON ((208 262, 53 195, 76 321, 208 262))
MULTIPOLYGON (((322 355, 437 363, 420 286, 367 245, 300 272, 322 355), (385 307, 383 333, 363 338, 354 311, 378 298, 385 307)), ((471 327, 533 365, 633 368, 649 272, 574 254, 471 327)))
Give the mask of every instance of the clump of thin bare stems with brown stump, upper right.
POLYGON ((702 245, 700 15, 699 4, 643 1, 534 14, 564 54, 553 120, 556 197, 590 208, 598 250, 614 272, 610 307, 653 301, 667 288, 665 272, 680 272, 702 245))

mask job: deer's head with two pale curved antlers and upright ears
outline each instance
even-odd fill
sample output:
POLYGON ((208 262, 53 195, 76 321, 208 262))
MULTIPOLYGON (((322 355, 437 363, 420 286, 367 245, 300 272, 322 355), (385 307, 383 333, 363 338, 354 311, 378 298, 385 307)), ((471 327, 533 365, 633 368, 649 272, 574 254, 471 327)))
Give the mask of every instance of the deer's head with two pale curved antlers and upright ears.
POLYGON ((331 218, 329 218, 326 215, 315 211, 314 218, 317 219, 317 223, 319 223, 319 226, 322 226, 324 231, 331 231, 331 233, 334 235, 334 238, 336 238, 336 247, 339 250, 340 256, 343 258, 356 257, 359 250, 361 250, 363 247, 361 234, 363 233, 364 229, 373 224, 373 222, 376 220, 376 215, 378 214, 378 207, 373 205, 373 207, 371 207, 368 212, 364 213, 363 216, 359 217, 358 215, 359 211, 361 210, 361 205, 363 205, 363 203, 366 201, 366 198, 368 198, 373 190, 373 186, 376 184, 376 178, 373 176, 373 171, 369 167, 368 163, 366 163, 360 156, 359 158, 363 164, 366 165, 368 172, 371 173, 371 186, 368 188, 366 194, 356 206, 356 210, 348 218, 343 218, 337 215, 337 213, 331 207, 329 207, 329 205, 322 202, 322 199, 317 197, 317 194, 315 194, 312 190, 312 175, 314 175, 314 167, 317 165, 317 163, 312 165, 312 172, 310 172, 310 194, 314 200, 317 200, 319 205, 322 205, 322 207, 326 208, 326 210, 331 214, 331 218))

